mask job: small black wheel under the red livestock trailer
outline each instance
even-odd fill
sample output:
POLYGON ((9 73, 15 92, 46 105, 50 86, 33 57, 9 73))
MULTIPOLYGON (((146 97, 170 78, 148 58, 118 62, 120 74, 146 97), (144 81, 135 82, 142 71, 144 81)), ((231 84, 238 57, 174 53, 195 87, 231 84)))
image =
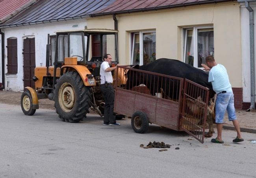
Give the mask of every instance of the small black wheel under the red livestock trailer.
POLYGON ((148 130, 148 117, 143 111, 136 111, 132 115, 132 128, 136 133, 145 133, 148 130))

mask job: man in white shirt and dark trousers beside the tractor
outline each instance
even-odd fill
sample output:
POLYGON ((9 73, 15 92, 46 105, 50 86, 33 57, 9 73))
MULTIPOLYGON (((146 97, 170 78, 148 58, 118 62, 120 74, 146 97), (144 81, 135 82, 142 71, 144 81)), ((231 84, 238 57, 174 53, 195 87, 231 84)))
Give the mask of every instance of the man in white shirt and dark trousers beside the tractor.
POLYGON ((115 67, 109 67, 111 64, 112 57, 110 54, 106 54, 104 56, 104 62, 102 62, 100 66, 100 91, 105 101, 104 108, 104 122, 103 125, 110 126, 120 126, 119 123, 115 120, 114 113, 114 101, 115 101, 115 90, 112 85, 113 76, 111 71, 117 69, 117 65, 115 67))

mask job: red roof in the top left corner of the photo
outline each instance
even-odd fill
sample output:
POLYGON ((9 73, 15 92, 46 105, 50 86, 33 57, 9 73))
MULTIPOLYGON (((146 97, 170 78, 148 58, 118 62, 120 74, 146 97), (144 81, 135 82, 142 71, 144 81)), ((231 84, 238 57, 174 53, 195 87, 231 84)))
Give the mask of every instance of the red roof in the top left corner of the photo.
POLYGON ((0 23, 10 19, 37 0, 0 0, 0 23))

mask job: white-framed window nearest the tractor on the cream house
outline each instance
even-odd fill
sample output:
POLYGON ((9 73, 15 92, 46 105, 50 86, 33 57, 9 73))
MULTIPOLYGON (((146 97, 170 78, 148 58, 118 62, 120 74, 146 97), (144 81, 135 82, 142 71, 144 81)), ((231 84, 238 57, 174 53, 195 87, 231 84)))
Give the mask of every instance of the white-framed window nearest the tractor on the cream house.
POLYGON ((156 60, 156 32, 131 33, 131 42, 132 65, 144 65, 156 60))

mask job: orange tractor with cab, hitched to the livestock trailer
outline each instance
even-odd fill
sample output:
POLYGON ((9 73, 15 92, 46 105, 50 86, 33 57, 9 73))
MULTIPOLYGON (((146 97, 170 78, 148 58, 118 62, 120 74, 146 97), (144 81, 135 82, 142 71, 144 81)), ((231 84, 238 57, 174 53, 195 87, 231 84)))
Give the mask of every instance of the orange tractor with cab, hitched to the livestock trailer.
MULTIPOLYGON (((111 54, 113 65, 119 63, 117 30, 83 29, 56 32, 53 65, 50 65, 50 44, 46 45, 46 66, 35 67, 35 89, 25 87, 20 104, 25 115, 39 109, 39 99, 54 100, 59 118, 65 122, 82 121, 89 108, 104 114, 100 92, 100 65, 104 54, 111 54)), ((122 72, 124 73, 124 72, 122 72)), ((113 71, 113 78, 116 77, 113 71)), ((124 76, 118 76, 123 79, 124 76)), ((113 83, 123 85, 124 80, 113 83)), ((124 115, 117 115, 121 119, 124 115)))

